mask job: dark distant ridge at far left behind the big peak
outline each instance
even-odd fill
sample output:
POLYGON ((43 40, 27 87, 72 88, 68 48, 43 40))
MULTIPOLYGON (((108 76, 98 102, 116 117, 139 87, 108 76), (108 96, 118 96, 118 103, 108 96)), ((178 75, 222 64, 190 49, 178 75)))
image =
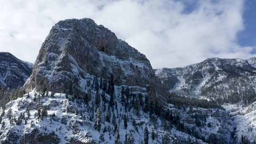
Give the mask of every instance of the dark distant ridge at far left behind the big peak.
POLYGON ((10 53, 0 53, 0 85, 15 89, 24 85, 32 72, 33 65, 10 53))

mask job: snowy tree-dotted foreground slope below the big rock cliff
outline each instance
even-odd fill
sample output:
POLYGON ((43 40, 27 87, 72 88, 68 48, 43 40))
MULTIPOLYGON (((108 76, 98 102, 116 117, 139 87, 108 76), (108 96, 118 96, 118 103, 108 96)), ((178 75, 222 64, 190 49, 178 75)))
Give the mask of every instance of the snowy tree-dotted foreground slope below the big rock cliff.
MULTIPOLYGON (((94 78, 88 76, 87 79, 93 81, 94 78)), ((146 105, 136 103, 138 91, 130 93, 132 97, 129 98, 129 103, 135 100, 135 105, 130 105, 125 112, 126 108, 121 102, 122 87, 115 87, 114 107, 110 106, 110 95, 103 97, 103 90, 99 90, 99 106, 97 91, 91 86, 87 90, 91 91, 91 101, 62 93, 46 92, 43 95, 42 91, 32 91, 10 101, 5 109, 0 110, 0 143, 115 144, 119 135, 121 144, 125 144, 125 141, 129 141, 126 144, 144 144, 144 130, 147 127, 148 144, 209 144, 215 141, 233 144, 233 124, 225 110, 166 105, 164 109, 168 109, 168 114, 165 113, 167 109, 161 111, 166 117, 170 117, 166 119, 145 112, 146 105), (138 109, 136 104, 139 105, 138 109), (99 119, 99 108, 100 130, 95 127, 99 119), (41 118, 44 110, 40 117, 38 109, 46 109, 47 115, 41 118), (155 135, 154 140, 152 132, 155 135), (130 140, 132 138, 133 143, 130 140)), ((145 101, 146 93, 141 94, 145 101)))

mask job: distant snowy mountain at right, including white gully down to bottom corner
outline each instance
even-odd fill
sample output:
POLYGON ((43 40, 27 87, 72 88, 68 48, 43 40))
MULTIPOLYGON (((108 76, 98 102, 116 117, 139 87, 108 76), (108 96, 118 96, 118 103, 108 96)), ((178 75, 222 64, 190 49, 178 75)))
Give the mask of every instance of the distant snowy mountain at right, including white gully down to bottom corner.
POLYGON ((184 101, 207 99, 206 105, 222 105, 226 120, 233 127, 230 133, 233 143, 256 144, 255 57, 247 60, 210 58, 185 67, 156 69, 155 75, 169 93, 176 94, 171 99, 173 103, 179 102, 175 97, 180 95, 184 101))

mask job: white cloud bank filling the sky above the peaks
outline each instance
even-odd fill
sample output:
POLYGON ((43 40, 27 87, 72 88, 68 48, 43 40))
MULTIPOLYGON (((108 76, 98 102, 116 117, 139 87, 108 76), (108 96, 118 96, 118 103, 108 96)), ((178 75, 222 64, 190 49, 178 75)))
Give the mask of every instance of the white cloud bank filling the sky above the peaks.
POLYGON ((194 1, 1 0, 0 51, 33 63, 56 22, 92 18, 146 54, 154 68, 254 56, 237 40, 244 0, 194 1))

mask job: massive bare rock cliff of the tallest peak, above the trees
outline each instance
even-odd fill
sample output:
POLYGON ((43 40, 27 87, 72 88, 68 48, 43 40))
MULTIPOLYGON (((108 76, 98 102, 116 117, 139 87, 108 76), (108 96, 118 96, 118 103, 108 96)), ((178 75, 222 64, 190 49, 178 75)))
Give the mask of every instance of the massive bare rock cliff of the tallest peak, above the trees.
POLYGON ((43 43, 27 90, 47 88, 84 95, 85 75, 108 79, 115 85, 148 88, 155 95, 155 73, 144 54, 89 18, 60 21, 43 43))

